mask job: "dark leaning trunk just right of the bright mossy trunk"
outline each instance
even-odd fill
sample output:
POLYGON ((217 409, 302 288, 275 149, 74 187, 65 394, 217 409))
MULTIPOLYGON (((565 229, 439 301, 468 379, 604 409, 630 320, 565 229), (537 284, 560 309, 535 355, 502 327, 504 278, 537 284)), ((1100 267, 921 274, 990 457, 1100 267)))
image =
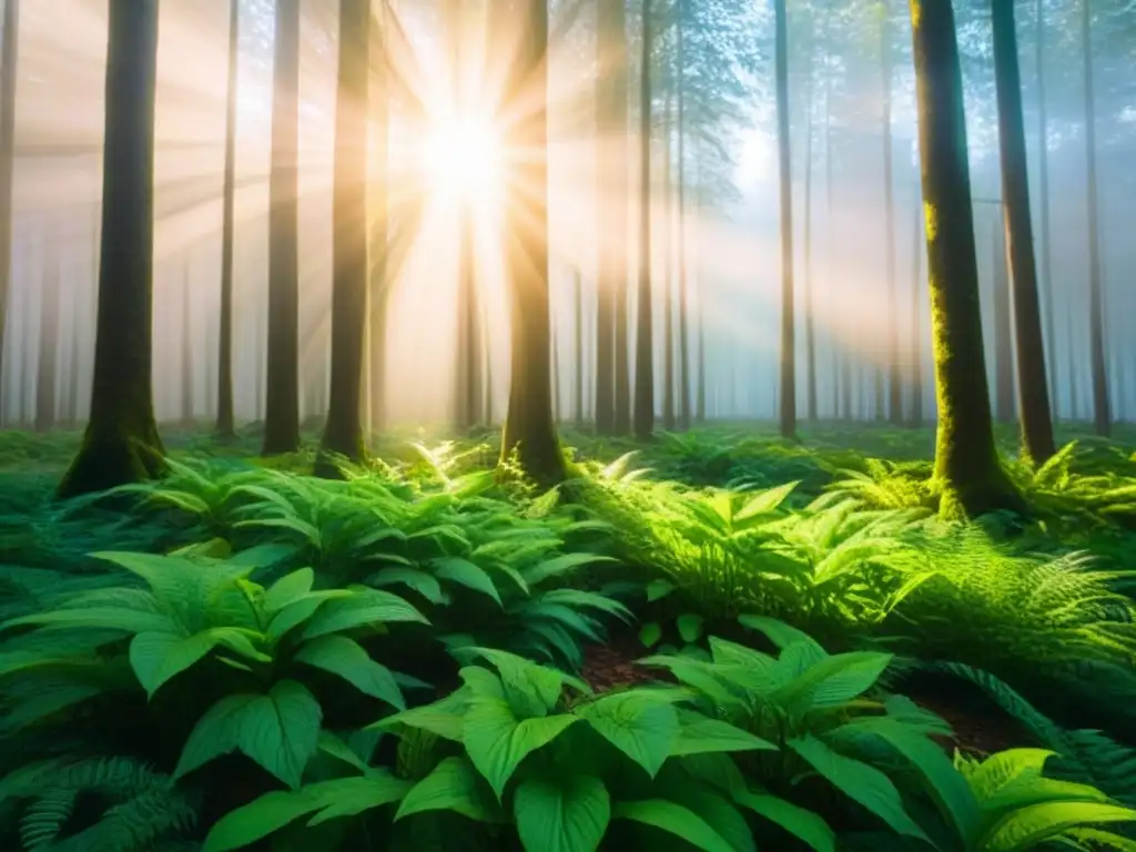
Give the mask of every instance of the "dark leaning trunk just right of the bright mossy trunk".
MULTIPOLYGON (((1013 3, 992 0, 994 80, 997 89, 1002 199, 1013 287, 1013 332, 1018 356, 1018 418, 1024 454, 1043 465, 1055 451, 1050 385, 1045 371, 1046 339, 1034 262, 1034 225, 1029 208, 1026 123, 1021 106, 1021 70, 1013 3)), ((1041 35, 1041 32, 1038 32, 1041 35)), ((1043 145, 1044 148, 1044 142, 1043 145)), ((1043 154, 1044 156, 1044 154, 1043 154)), ((1043 220, 1047 218, 1043 214, 1043 220)), ((1043 248, 1047 251, 1047 248, 1043 248)), ((1052 334, 1050 341, 1052 341, 1052 334)), ((1052 343, 1050 343, 1052 345, 1052 343)), ((1001 368, 1000 368, 1001 373, 1001 368)))

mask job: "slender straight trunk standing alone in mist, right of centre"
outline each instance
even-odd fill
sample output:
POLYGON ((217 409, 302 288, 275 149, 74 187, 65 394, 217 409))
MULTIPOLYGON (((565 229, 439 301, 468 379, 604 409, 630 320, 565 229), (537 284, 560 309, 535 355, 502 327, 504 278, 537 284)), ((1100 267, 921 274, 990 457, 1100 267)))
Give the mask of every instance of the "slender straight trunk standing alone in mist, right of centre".
POLYGON ((796 440, 796 328, 793 307, 793 169, 788 134, 788 15, 785 0, 774 0, 776 16, 777 151, 780 174, 782 341, 780 435, 796 440))

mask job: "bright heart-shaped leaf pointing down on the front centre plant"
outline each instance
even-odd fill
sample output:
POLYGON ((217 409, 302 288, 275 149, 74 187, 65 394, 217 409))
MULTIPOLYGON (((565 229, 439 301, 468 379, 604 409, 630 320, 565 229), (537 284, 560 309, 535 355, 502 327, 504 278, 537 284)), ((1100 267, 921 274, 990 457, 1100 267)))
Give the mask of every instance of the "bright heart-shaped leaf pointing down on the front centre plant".
POLYGON ((462 742, 477 771, 500 800, 520 761, 575 721, 576 717, 569 715, 518 719, 508 702, 477 696, 466 712, 462 742))

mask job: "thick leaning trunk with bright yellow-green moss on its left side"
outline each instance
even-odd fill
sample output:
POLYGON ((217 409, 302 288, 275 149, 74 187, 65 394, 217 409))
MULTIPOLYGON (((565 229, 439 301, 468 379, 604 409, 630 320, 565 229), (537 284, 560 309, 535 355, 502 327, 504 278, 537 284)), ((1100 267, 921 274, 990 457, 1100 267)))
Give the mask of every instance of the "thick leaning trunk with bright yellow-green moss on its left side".
POLYGON ((991 425, 975 252, 962 70, 951 0, 911 3, 919 152, 927 217, 941 515, 1021 508, 991 425))

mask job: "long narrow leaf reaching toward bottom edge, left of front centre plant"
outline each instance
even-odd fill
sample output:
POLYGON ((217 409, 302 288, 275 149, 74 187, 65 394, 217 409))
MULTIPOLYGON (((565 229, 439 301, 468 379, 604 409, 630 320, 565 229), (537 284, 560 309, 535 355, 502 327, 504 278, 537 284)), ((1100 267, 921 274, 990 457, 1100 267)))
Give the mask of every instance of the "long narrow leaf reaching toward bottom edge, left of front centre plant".
POLYGON ((266 793, 249 804, 229 811, 214 825, 206 837, 202 852, 231 852, 250 846, 278 832, 286 825, 318 813, 309 825, 317 825, 321 817, 350 816, 365 810, 396 802, 410 785, 389 774, 376 772, 361 778, 336 778, 310 784, 296 791, 266 793))

